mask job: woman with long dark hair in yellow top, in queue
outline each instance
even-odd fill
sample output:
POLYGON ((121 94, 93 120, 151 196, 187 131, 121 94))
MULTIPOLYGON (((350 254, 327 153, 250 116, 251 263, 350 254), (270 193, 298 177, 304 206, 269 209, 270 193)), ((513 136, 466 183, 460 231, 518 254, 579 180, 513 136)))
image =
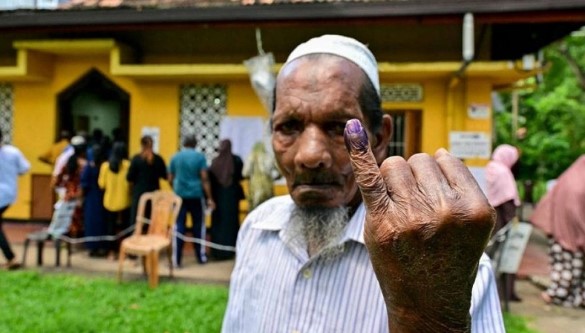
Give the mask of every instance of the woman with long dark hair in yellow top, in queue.
MULTIPOLYGON (((130 184, 126 174, 130 168, 124 142, 115 142, 110 159, 102 164, 98 184, 104 190, 106 234, 114 236, 130 226, 130 184)), ((120 242, 109 242, 108 259, 115 259, 120 242)))

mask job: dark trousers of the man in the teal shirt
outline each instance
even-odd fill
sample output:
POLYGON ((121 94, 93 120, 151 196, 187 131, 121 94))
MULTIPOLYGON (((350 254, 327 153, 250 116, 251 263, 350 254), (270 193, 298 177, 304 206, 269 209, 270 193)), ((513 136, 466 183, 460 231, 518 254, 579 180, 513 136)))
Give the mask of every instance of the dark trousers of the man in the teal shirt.
MULTIPOLYGON (((201 198, 183 198, 183 203, 181 204, 181 210, 177 217, 175 228, 176 232, 181 235, 185 235, 187 231, 187 213, 191 214, 191 233, 193 234, 193 237, 197 239, 205 238, 205 225, 203 223, 203 205, 201 203, 201 198)), ((180 238, 180 235, 177 235, 175 237, 174 248, 174 261, 177 266, 181 266, 181 261, 183 259, 183 245, 185 245, 185 241, 180 238)), ((205 247, 198 243, 195 243, 195 258, 199 263, 207 261, 205 247)))

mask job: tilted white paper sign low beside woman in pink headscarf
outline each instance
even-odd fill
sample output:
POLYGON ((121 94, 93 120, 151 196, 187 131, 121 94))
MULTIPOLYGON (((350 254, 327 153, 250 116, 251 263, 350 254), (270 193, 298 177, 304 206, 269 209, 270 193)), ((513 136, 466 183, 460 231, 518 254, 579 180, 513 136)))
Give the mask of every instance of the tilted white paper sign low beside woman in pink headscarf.
POLYGON ((500 263, 498 264, 498 271, 501 273, 514 274, 518 272, 520 261, 524 255, 526 244, 532 233, 532 225, 530 223, 514 223, 506 236, 504 248, 500 254, 500 263))

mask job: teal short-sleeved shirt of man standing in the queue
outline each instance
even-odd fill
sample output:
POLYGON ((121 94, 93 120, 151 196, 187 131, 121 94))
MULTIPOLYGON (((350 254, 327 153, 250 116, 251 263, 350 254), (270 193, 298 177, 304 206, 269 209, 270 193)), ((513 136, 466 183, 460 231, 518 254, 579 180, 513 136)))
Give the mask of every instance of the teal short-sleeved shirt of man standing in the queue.
POLYGON ((181 198, 203 198, 201 171, 207 170, 205 155, 193 148, 183 148, 169 165, 173 175, 173 190, 181 198))

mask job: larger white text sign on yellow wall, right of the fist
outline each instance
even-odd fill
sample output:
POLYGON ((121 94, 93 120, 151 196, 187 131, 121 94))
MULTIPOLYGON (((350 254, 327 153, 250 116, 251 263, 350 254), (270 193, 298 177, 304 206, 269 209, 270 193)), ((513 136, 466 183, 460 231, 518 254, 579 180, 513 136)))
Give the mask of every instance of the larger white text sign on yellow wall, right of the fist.
POLYGON ((484 132, 450 132, 449 152, 457 158, 489 159, 492 140, 484 132))

